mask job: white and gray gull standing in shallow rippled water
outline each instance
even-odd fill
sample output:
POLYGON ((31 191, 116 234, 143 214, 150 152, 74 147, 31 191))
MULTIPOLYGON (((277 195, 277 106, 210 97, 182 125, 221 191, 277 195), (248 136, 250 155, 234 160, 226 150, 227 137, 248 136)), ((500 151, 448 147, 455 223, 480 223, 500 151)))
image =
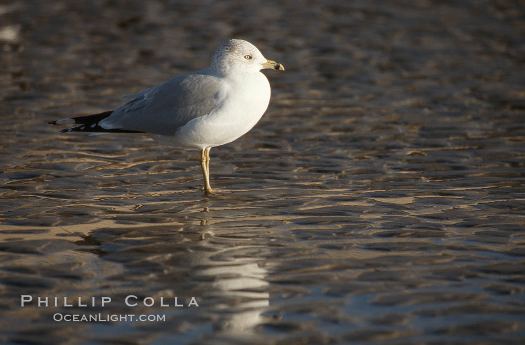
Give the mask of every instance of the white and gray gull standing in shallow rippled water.
POLYGON ((123 96, 131 100, 116 109, 49 124, 76 125, 61 133, 146 133, 164 145, 199 149, 203 190, 218 194, 209 184, 209 150, 244 135, 265 113, 270 84, 264 68, 285 70, 246 40, 229 39, 211 67, 123 96))

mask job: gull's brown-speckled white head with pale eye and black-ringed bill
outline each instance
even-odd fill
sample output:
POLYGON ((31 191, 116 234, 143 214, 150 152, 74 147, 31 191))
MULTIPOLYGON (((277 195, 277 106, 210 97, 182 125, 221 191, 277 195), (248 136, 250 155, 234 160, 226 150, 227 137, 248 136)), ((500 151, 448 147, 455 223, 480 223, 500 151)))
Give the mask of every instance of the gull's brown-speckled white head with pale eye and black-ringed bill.
POLYGON ((285 70, 281 64, 267 60, 256 46, 243 39, 230 39, 217 48, 212 69, 221 74, 254 73, 262 68, 285 70))

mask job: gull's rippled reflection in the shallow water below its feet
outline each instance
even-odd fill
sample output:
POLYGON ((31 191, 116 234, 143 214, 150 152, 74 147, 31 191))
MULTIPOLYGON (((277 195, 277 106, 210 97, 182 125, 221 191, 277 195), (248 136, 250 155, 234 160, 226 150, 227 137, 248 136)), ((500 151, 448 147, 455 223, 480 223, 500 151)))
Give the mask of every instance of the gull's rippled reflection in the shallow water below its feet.
MULTIPOLYGON (((243 223, 245 211, 214 202, 205 199, 199 208, 190 205, 193 209, 179 217, 166 214, 170 221, 160 224, 106 227, 76 241, 77 250, 103 258, 100 265, 120 265, 121 272, 111 279, 112 291, 119 291, 112 293, 114 301, 132 294, 157 301, 178 296, 184 305, 195 297, 199 304, 198 308, 168 310, 155 305, 130 310, 116 302, 104 311, 166 313, 174 324, 181 318, 202 321, 204 317, 212 322, 213 333, 203 334, 199 344, 216 337, 250 337, 269 307, 268 271, 261 263, 271 255, 271 247, 260 236, 260 228, 232 227, 232 222, 243 223)), ((97 285, 85 295, 100 293, 97 285)))

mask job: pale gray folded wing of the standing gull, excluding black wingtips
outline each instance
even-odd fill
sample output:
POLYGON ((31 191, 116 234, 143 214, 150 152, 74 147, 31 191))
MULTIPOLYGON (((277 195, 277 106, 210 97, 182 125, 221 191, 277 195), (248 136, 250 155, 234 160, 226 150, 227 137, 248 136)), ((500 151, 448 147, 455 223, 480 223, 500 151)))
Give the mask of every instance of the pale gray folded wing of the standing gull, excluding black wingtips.
POLYGON ((211 113, 219 104, 221 80, 205 69, 129 95, 137 97, 100 121, 104 129, 173 135, 194 118, 211 113))

